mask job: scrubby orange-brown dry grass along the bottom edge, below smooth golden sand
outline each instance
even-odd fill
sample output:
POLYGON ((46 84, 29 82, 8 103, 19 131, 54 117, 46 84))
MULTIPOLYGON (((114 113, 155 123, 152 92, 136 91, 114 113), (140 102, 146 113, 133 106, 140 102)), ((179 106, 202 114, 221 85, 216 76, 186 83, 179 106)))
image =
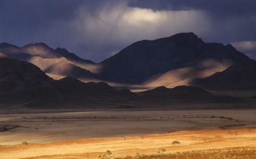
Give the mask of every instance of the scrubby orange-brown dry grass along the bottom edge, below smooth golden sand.
MULTIPOLYGON (((64 155, 53 155, 53 156, 40 156, 40 157, 29 157, 26 159, 39 159, 39 158, 90 158, 92 154, 81 153, 81 154, 64 154, 64 155)), ((151 155, 139 154, 135 156, 126 157, 115 157, 108 155, 107 153, 98 156, 101 159, 174 159, 174 158, 256 158, 256 147, 228 147, 224 149, 208 149, 208 150, 193 150, 193 151, 182 151, 173 153, 156 153, 151 155)))

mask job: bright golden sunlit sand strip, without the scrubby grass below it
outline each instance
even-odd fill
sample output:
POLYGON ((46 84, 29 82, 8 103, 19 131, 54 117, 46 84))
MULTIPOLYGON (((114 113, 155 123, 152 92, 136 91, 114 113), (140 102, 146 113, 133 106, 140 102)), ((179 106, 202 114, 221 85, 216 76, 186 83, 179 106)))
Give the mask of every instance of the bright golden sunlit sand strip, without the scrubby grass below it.
MULTIPOLYGON (((111 151, 111 158, 136 156, 136 154, 165 154, 177 151, 209 150, 230 147, 256 147, 256 129, 215 129, 202 131, 177 131, 143 136, 119 138, 93 138, 53 143, 29 143, 1 146, 1 158, 98 158, 111 151), (173 141, 180 144, 172 144, 173 141)), ((254 154, 251 154, 254 155, 254 154)))

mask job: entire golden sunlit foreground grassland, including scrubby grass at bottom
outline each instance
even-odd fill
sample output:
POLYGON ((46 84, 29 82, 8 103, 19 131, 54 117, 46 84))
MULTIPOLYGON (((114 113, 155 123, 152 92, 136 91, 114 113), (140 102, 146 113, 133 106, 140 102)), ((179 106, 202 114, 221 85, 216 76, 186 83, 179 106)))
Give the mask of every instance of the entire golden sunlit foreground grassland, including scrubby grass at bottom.
POLYGON ((255 158, 256 129, 177 131, 119 138, 2 145, 0 156, 1 158, 255 158))

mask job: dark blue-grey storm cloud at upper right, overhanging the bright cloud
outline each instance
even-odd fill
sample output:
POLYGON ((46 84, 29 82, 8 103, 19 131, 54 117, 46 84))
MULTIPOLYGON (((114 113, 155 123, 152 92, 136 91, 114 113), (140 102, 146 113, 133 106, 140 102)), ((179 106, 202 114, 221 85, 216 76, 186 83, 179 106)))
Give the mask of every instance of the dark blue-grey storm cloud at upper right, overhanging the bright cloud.
MULTIPOLYGON (((235 41, 255 40, 255 0, 130 0, 127 5, 152 9, 155 12, 159 10, 202 10, 213 20, 214 30, 212 32, 224 30, 226 33, 234 34, 223 41, 227 42, 230 38, 235 41)), ((225 38, 226 35, 223 37, 225 38)))

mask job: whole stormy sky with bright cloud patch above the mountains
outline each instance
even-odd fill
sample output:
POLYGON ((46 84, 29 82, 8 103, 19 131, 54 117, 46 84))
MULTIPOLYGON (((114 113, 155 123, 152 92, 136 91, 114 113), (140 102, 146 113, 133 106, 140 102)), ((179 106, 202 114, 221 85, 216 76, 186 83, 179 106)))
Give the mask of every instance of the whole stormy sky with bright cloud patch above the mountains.
POLYGON ((0 0, 0 42, 101 62, 133 42, 194 32, 256 59, 255 0, 0 0))

